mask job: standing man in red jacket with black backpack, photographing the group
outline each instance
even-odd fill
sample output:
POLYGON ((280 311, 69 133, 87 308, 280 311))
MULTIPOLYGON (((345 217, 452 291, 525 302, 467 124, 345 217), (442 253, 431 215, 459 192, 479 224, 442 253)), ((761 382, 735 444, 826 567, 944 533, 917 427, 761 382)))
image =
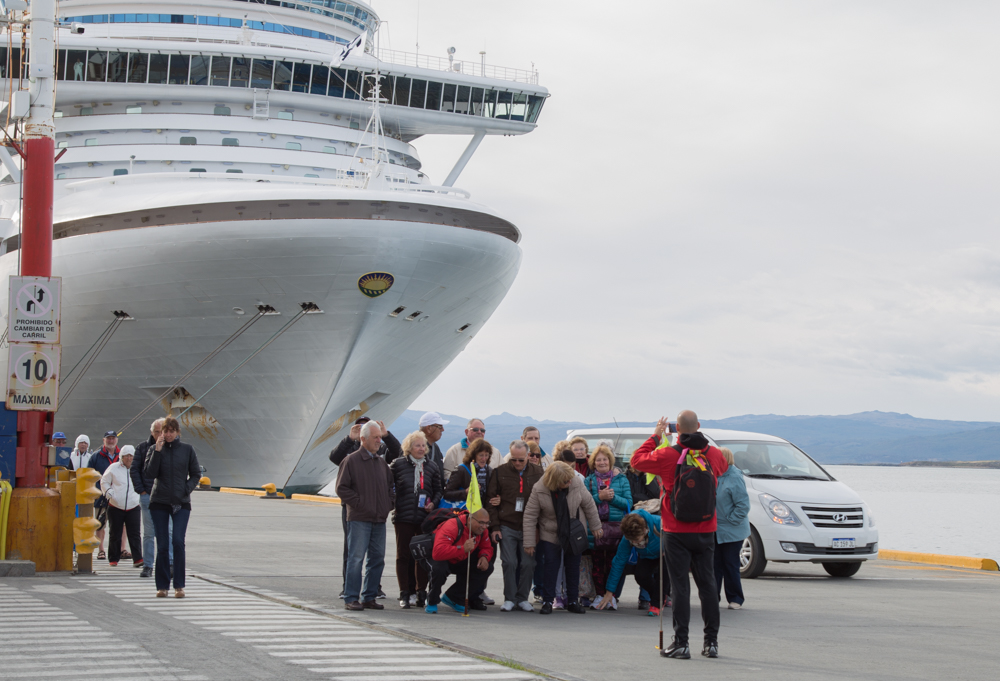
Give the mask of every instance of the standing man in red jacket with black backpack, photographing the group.
MULTIPOLYGON (((693 411, 682 411, 677 416, 677 432, 679 443, 673 447, 657 449, 660 438, 667 430, 667 420, 661 418, 653 431, 653 437, 646 440, 632 455, 632 468, 642 473, 659 475, 663 481, 663 508, 661 522, 666 538, 665 550, 667 574, 670 575, 671 597, 673 598, 674 640, 663 651, 666 657, 690 659, 691 649, 688 646, 688 624, 691 620, 691 581, 688 570, 694 574, 694 582, 698 585, 698 596, 701 599, 701 616, 705 620, 705 645, 701 654, 705 657, 719 656, 719 592, 715 585, 715 500, 710 502, 710 517, 698 522, 682 522, 678 520, 671 509, 672 493, 674 491, 674 476, 682 462, 695 465, 698 469, 704 466, 714 478, 709 482, 716 484, 719 476, 726 472, 729 464, 716 447, 708 443, 708 439, 698 432, 701 424, 698 415, 693 411)), ((696 470, 696 469, 691 469, 696 470)), ((695 481, 688 481, 689 486, 695 486, 695 481)), ((714 491, 714 487, 712 490, 714 491)), ((706 514, 707 516, 708 514, 706 514)))

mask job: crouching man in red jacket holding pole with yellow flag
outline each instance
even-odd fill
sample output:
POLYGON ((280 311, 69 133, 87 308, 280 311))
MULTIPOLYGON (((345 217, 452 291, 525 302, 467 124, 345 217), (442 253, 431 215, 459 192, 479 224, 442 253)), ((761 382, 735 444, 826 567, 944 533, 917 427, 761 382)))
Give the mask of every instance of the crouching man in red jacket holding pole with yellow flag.
POLYGON ((469 576, 468 593, 473 594, 469 607, 473 610, 486 609, 483 591, 486 590, 486 580, 489 577, 487 571, 493 557, 493 545, 487 532, 489 527, 490 514, 485 508, 472 515, 463 514, 446 520, 437 526, 434 530, 434 550, 431 552, 430 584, 425 611, 437 612, 437 604, 443 601, 452 610, 465 612, 466 575, 469 576), (472 560, 473 553, 479 558, 475 569, 470 569, 472 566, 469 561, 472 560), (455 583, 442 596, 441 587, 448 580, 448 575, 455 575, 455 583))

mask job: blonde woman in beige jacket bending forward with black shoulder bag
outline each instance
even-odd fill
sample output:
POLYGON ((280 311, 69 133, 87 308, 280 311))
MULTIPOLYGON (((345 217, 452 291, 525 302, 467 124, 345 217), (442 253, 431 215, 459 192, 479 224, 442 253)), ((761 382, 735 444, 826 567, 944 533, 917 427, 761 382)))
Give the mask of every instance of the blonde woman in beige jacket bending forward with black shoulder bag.
MULTIPOLYGON (((528 555, 535 555, 538 551, 545 561, 542 615, 552 613, 559 568, 565 565, 567 575, 580 574, 580 554, 587 548, 586 536, 580 536, 581 528, 574 528, 576 523, 573 521, 579 521, 583 532, 589 525, 595 537, 603 536, 594 499, 576 477, 573 468, 556 461, 545 470, 542 484, 531 488, 531 496, 524 509, 524 551, 528 555)), ((578 579, 566 580, 566 596, 568 611, 577 614, 587 612, 580 605, 578 579)))

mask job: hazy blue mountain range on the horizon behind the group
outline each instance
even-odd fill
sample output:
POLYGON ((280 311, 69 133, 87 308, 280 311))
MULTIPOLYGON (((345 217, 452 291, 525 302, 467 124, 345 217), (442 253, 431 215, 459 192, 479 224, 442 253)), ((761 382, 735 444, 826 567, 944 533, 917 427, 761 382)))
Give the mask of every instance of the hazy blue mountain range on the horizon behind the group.
MULTIPOLYGON (((423 412, 407 410, 392 424, 397 436, 417 429, 423 412)), ((445 427, 442 449, 464 437, 468 417, 442 414, 445 427)), ((537 426, 542 448, 550 452, 578 428, 613 428, 615 423, 539 421, 508 412, 485 419, 486 439, 502 451, 521 437, 525 426, 537 426)), ((648 427, 649 421, 619 421, 620 427, 648 427)), ((845 416, 780 416, 747 414, 725 419, 703 420, 706 428, 727 428, 767 433, 785 438, 820 463, 902 463, 904 461, 970 461, 1000 459, 1000 423, 990 421, 938 421, 909 414, 868 411, 845 416)))

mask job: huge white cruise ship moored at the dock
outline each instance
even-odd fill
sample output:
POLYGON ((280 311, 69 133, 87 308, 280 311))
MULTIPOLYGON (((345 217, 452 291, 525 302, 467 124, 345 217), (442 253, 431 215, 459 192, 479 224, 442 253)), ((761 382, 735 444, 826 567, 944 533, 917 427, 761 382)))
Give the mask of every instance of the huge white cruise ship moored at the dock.
MULTIPOLYGON (((518 228, 455 183, 486 135, 534 130, 548 91, 480 55, 380 49, 380 18, 355 0, 57 13, 55 427, 136 443, 174 414, 213 486, 317 492, 354 419, 391 423, 509 290, 518 228), (437 182, 414 146, 431 134, 469 139, 437 182)), ((31 88, 13 16, 4 102, 31 88)), ((5 279, 19 257, 13 109, 5 279)))

